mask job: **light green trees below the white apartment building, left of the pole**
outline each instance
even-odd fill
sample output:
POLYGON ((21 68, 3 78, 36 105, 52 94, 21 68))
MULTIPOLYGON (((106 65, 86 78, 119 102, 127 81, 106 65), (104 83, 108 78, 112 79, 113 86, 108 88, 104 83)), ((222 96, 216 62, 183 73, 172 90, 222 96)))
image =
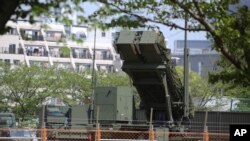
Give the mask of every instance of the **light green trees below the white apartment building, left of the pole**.
POLYGON ((68 104, 81 104, 90 95, 90 80, 82 74, 56 68, 27 67, 11 69, 1 65, 1 103, 22 120, 34 116, 47 97, 58 97, 68 104))

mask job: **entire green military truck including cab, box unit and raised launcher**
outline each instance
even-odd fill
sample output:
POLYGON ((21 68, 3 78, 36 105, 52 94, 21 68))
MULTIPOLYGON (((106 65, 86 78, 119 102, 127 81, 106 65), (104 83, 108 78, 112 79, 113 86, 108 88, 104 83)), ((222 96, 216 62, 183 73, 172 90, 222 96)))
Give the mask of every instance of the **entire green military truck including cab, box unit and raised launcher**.
POLYGON ((91 134, 88 129, 95 127, 97 119, 102 129, 147 131, 149 121, 155 130, 185 129, 183 121, 189 116, 184 115, 191 113, 184 114, 187 105, 184 88, 163 34, 159 31, 121 31, 116 34, 114 48, 123 60, 122 70, 131 78, 140 96, 139 109, 135 108, 131 87, 96 87, 94 105, 45 106, 40 110, 43 111, 40 123, 46 128, 87 129, 71 135, 58 130, 51 134, 52 139, 87 139, 87 134, 91 134))

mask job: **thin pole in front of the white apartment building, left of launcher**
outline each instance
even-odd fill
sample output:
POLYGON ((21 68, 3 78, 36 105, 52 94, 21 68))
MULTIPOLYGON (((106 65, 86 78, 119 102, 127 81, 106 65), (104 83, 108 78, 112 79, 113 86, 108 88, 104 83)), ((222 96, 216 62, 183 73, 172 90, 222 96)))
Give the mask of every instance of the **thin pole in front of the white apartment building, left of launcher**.
POLYGON ((90 114, 90 121, 93 123, 93 117, 94 117, 94 88, 96 87, 96 71, 95 71, 95 53, 96 53, 96 27, 94 29, 94 47, 93 47, 93 57, 92 57, 92 80, 91 80, 91 86, 92 86, 92 97, 91 97, 91 114, 90 114))

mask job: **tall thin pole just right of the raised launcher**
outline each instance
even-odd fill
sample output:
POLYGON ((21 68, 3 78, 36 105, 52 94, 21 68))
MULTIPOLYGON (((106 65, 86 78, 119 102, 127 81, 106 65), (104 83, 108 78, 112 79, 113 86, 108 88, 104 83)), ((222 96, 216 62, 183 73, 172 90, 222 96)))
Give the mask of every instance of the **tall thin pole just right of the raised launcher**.
MULTIPOLYGON (((186 0, 187 3, 187 0, 186 0)), ((185 32, 184 32, 184 117, 189 116, 189 49, 187 48, 187 13, 185 12, 185 32)))

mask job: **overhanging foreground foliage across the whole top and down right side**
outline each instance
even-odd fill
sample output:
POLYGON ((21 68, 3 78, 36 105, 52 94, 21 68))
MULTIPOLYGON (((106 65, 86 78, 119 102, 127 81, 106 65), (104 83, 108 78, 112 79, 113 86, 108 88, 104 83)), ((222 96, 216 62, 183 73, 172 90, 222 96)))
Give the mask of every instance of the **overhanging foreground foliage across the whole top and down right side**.
POLYGON ((230 66, 230 71, 225 68, 217 78, 232 85, 239 82, 239 85, 249 87, 250 12, 248 7, 239 5, 239 0, 2 0, 0 32, 6 31, 8 20, 24 18, 34 22, 38 20, 36 17, 54 15, 57 9, 63 13, 55 17, 56 20, 66 25, 73 23, 72 14, 77 13, 80 24, 90 22, 100 28, 145 27, 156 23, 170 29, 205 31, 214 42, 213 48, 221 52, 230 66), (85 17, 84 2, 98 2, 101 5, 89 17, 85 17), (235 10, 229 9, 232 4, 235 10), (183 22, 178 22, 184 19, 187 19, 187 27, 183 22))

